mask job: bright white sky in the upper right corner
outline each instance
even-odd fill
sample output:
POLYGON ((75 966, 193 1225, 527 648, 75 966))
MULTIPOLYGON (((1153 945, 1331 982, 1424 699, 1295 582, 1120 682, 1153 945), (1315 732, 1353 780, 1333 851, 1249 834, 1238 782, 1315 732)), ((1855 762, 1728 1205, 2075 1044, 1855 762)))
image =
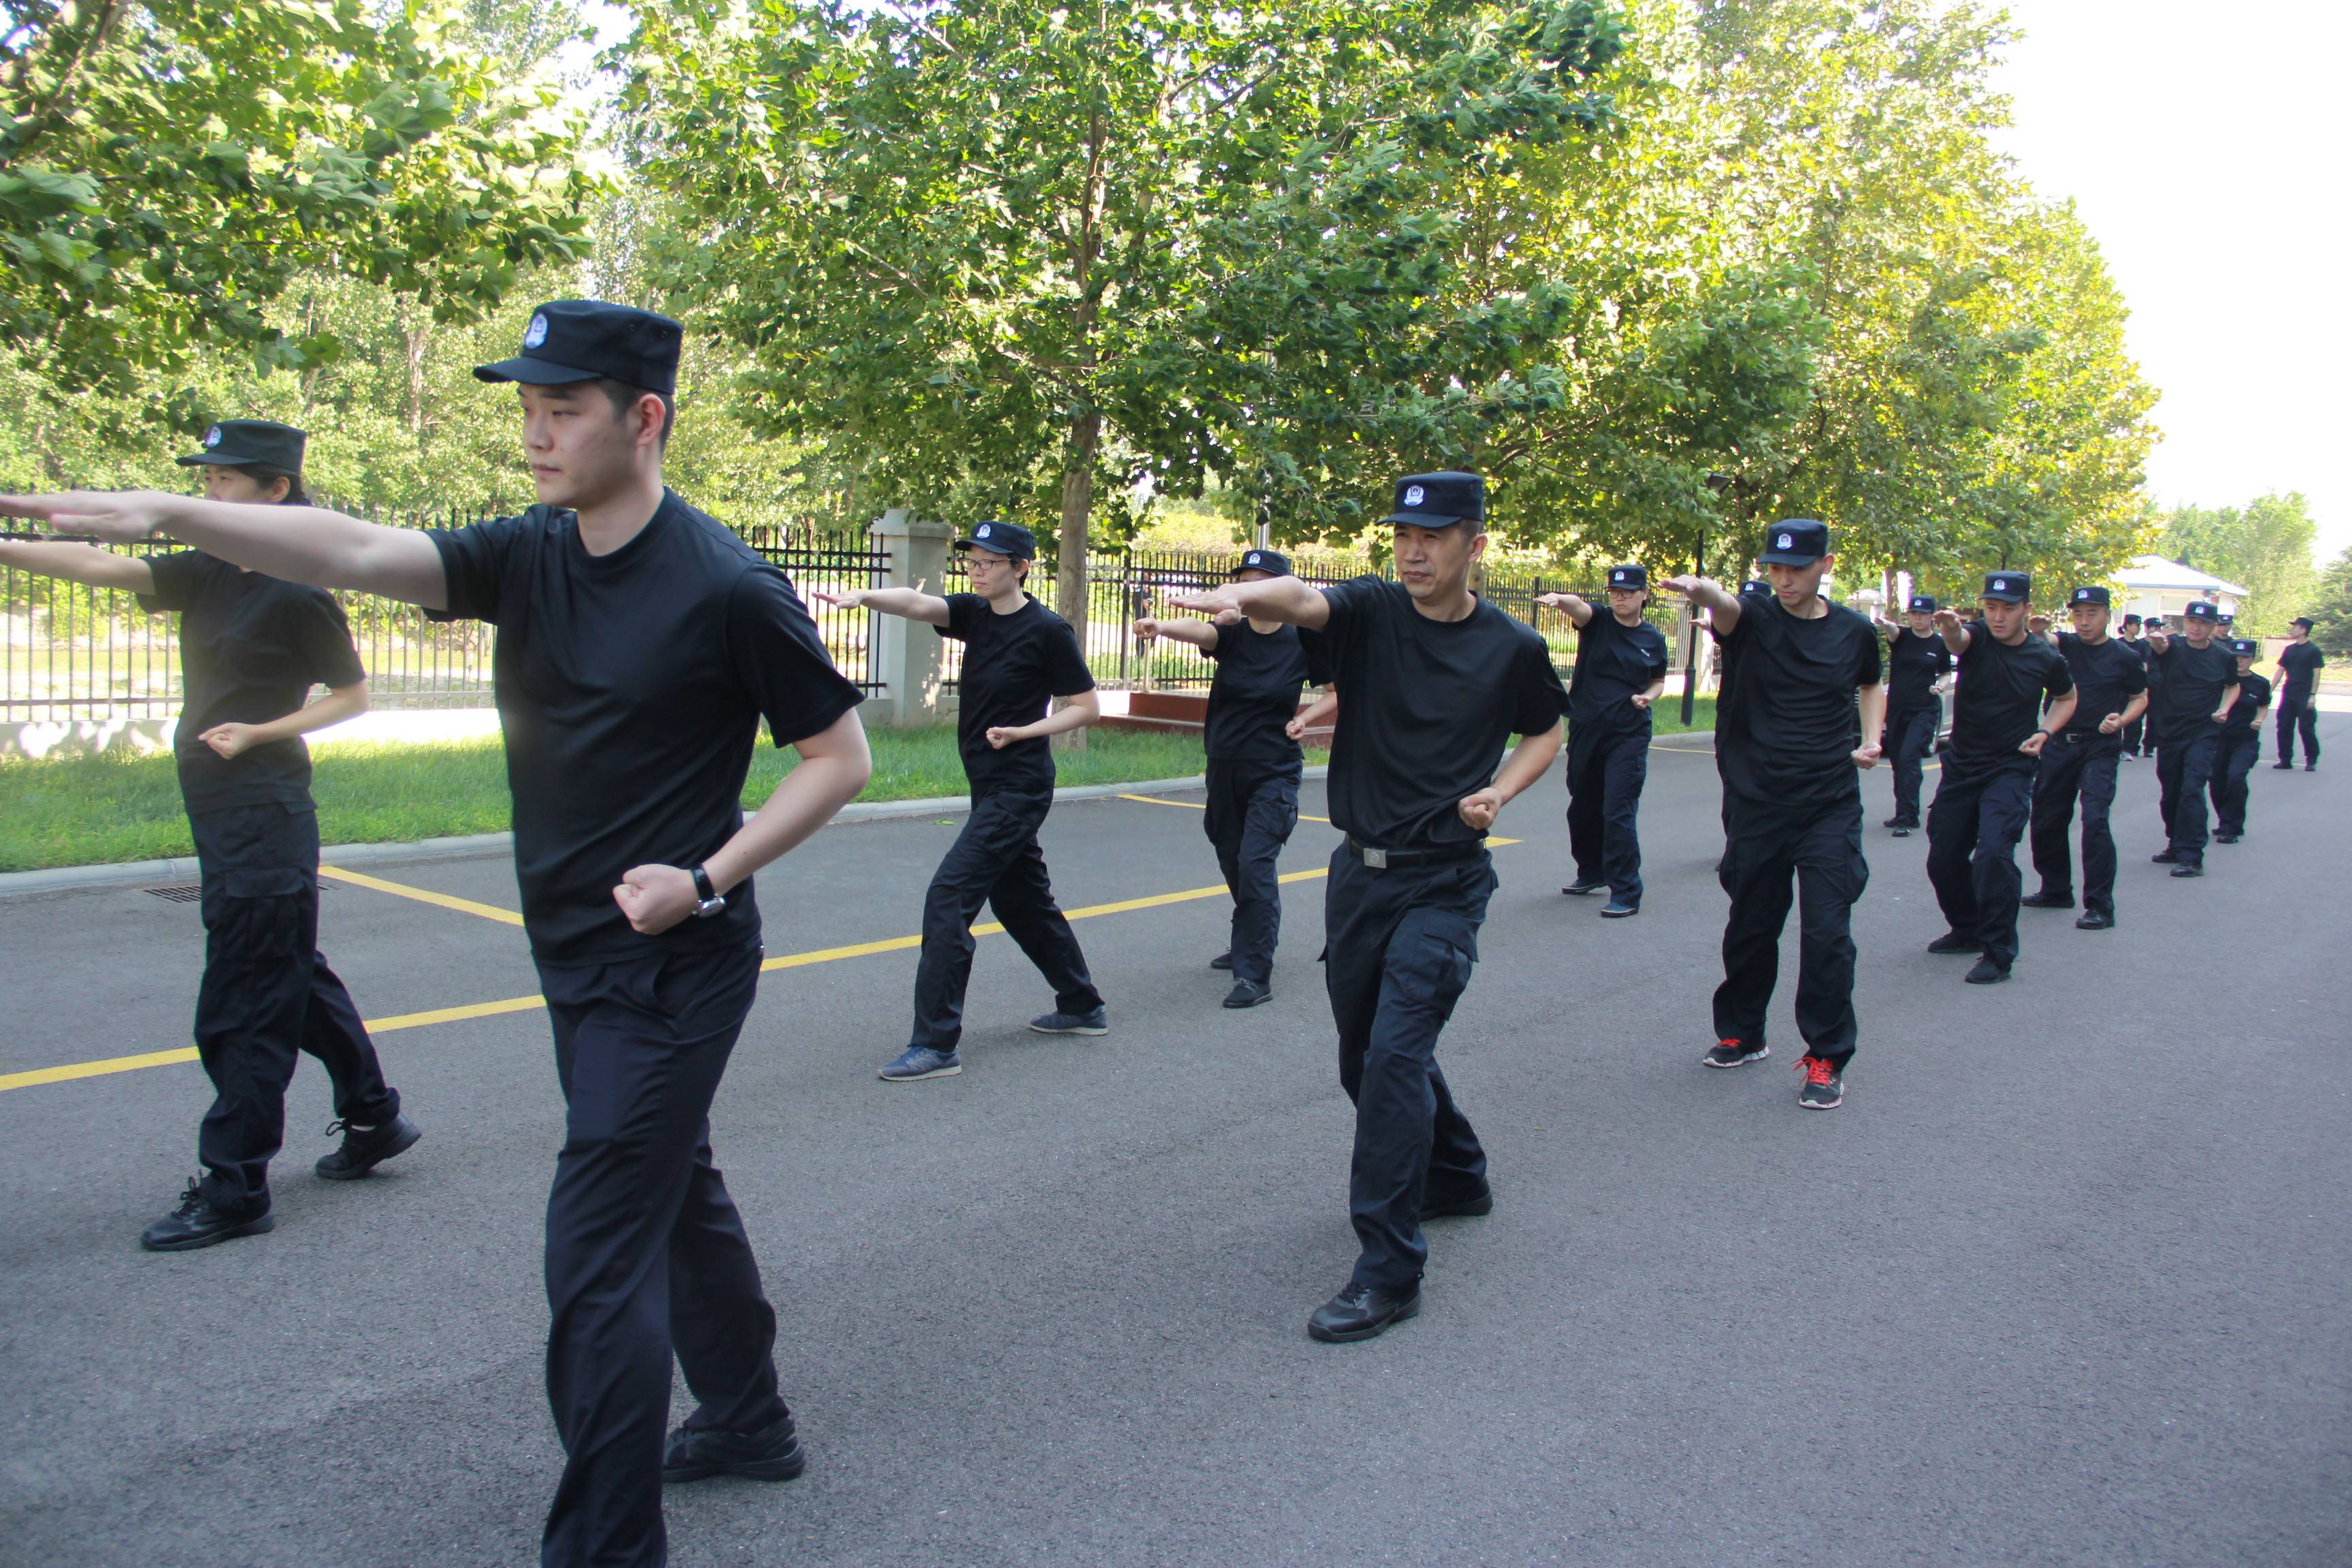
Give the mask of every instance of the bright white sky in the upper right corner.
POLYGON ((2161 393, 2159 503, 2300 489, 2352 545, 2345 0, 2006 0, 2004 146, 2074 197, 2161 393))

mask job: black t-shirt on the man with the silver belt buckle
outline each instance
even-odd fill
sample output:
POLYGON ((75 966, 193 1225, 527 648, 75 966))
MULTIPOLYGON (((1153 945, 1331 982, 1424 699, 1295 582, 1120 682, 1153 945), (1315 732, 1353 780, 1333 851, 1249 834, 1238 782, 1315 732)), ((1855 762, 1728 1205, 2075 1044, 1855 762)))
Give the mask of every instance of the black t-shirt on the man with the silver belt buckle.
POLYGON ((1324 597, 1324 661, 1341 691, 1331 820, 1376 849, 1477 842, 1461 799, 1494 783, 1512 733, 1541 736, 1569 708, 1550 646, 1484 599, 1461 621, 1432 621, 1376 576, 1324 597))

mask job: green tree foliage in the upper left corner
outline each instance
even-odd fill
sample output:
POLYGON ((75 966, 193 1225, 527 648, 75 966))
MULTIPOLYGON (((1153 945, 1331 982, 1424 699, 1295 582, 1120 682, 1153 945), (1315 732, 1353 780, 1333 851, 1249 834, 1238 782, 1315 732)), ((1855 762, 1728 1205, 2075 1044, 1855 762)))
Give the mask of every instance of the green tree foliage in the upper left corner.
POLYGON ((583 113, 440 0, 0 7, 0 341, 52 388, 320 364, 308 273, 473 320, 583 249, 583 113))

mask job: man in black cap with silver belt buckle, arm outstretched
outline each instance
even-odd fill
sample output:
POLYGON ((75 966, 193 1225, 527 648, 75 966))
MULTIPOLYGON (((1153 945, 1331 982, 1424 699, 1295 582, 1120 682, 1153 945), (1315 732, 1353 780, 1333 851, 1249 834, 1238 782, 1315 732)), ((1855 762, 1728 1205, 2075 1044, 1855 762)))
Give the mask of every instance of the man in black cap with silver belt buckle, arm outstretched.
POLYGON ((1345 698, 1331 736, 1331 820, 1348 835, 1324 893, 1324 985, 1338 1081, 1355 1100, 1348 1211, 1362 1253, 1308 1319, 1327 1342, 1369 1340, 1421 1312, 1421 1222, 1494 1208, 1486 1152, 1437 1070, 1437 1032, 1470 983, 1494 896, 1486 830, 1559 752, 1566 693, 1531 625, 1470 592, 1486 552, 1486 484, 1397 482, 1397 581, 1315 590, 1298 578, 1176 595, 1322 632, 1345 698), (1510 733, 1522 741, 1503 759, 1510 733))

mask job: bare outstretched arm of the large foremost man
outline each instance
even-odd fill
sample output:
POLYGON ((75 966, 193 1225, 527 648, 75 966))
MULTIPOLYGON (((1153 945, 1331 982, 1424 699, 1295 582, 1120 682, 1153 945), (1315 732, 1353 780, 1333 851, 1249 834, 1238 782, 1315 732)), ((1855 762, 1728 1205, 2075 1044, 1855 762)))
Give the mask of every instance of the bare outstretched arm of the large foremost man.
POLYGON ((202 501, 162 491, 0 496, 0 515, 38 517, 61 534, 134 543, 153 534, 223 562, 313 588, 355 588, 426 609, 449 607, 440 550, 416 529, 386 529, 322 505, 202 501))

